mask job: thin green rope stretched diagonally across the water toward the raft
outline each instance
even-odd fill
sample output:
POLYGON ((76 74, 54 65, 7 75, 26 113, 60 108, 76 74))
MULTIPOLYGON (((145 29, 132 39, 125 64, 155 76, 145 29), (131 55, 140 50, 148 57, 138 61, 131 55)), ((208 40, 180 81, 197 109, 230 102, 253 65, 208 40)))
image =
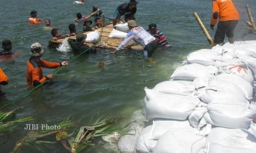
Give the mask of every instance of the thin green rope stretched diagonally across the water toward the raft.
MULTIPOLYGON (((79 54, 78 56, 76 56, 75 58, 73 58, 72 60, 70 60, 70 62, 74 61, 75 59, 77 59, 79 56, 81 56, 82 54, 86 53, 89 49, 91 49, 92 47, 84 50, 81 54, 79 54)), ((53 74, 57 74, 61 69, 63 69, 66 66, 61 66, 60 68, 54 70, 53 74)), ((7 106, 14 104, 16 101, 28 96, 30 93, 32 93, 34 90, 40 88, 42 85, 46 84, 47 82, 49 82, 50 80, 46 80, 45 82, 37 85, 36 87, 30 89, 29 91, 19 95, 17 98, 13 99, 12 101, 10 101, 9 103, 7 103, 6 105, 4 105, 2 108, 0 108, 0 110, 2 110, 3 108, 6 108, 7 106)))

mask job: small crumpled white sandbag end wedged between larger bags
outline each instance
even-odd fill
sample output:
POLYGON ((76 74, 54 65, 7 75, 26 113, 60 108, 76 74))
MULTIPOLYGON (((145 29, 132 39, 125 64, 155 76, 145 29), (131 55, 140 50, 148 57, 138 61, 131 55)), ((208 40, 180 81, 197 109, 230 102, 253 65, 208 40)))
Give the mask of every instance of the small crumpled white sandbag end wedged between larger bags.
MULTIPOLYGON (((189 114, 188 116, 188 121, 189 123, 195 127, 198 128, 199 122, 200 120, 203 118, 204 114, 207 112, 207 108, 206 107, 197 107, 195 108, 195 110, 189 114)), ((201 127, 201 126, 200 126, 201 127)), ((200 128, 199 127, 199 128, 200 128)))

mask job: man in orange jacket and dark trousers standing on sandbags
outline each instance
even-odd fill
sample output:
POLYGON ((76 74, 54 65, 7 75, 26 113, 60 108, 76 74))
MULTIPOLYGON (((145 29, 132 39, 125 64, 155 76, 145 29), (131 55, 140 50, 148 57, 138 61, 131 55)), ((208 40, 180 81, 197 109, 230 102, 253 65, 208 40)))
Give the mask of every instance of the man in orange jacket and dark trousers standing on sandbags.
POLYGON ((233 31, 239 21, 239 13, 236 7, 234 7, 231 0, 212 0, 212 6, 210 23, 212 30, 214 29, 218 17, 220 18, 214 37, 214 46, 223 43, 225 35, 227 35, 229 43, 234 43, 233 31))

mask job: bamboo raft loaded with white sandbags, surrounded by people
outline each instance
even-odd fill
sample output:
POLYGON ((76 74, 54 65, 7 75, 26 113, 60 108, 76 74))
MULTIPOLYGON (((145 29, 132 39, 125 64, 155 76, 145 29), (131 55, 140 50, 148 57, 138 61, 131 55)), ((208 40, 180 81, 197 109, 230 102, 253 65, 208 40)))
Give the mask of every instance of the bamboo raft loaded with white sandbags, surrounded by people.
MULTIPOLYGON (((101 28, 98 29, 98 31, 101 33, 101 28)), ((122 39, 117 39, 117 38, 109 38, 110 33, 113 30, 113 24, 109 23, 107 25, 104 25, 103 30, 102 30, 102 34, 101 34, 101 39, 100 42, 97 43, 95 45, 95 47, 100 47, 100 48, 104 48, 104 49, 116 49, 119 44, 123 41, 122 39)), ((89 32, 85 32, 83 34, 88 34, 89 32)), ((71 36, 71 37, 67 37, 67 38, 71 38, 71 39, 76 39, 75 36, 71 36)), ((58 47, 62 41, 65 39, 59 39, 59 40, 50 40, 49 41, 49 46, 50 47, 58 47)), ((130 41, 127 45, 134 43, 134 41, 130 41)), ((136 45, 136 46, 132 46, 133 49, 136 50, 143 50, 143 47, 141 45, 136 45)))

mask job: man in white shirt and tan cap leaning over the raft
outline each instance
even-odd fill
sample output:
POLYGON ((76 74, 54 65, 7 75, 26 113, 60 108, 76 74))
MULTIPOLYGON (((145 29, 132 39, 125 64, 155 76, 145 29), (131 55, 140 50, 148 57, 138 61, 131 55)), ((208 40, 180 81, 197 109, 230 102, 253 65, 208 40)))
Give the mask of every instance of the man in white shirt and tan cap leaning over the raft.
POLYGON ((114 50, 114 52, 111 52, 111 53, 116 54, 117 51, 122 49, 123 46, 125 46, 131 40, 134 40, 135 43, 128 45, 127 48, 133 45, 140 44, 144 48, 144 50, 147 50, 148 60, 150 62, 153 62, 152 54, 155 52, 158 45, 156 38, 151 36, 142 27, 138 27, 135 20, 130 20, 127 23, 130 31, 128 32, 123 42, 116 48, 116 50, 114 50))

